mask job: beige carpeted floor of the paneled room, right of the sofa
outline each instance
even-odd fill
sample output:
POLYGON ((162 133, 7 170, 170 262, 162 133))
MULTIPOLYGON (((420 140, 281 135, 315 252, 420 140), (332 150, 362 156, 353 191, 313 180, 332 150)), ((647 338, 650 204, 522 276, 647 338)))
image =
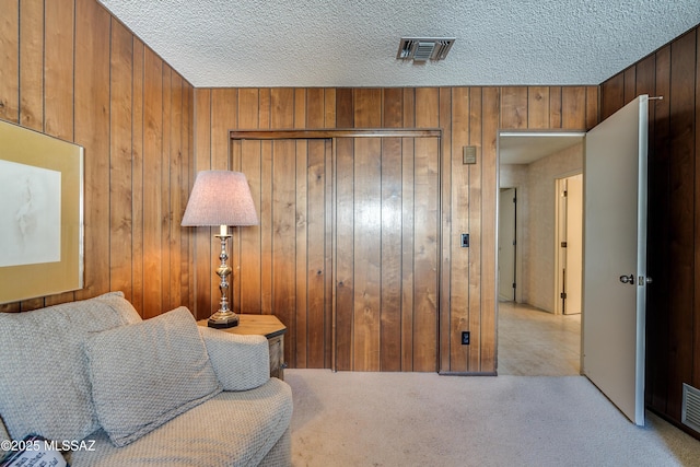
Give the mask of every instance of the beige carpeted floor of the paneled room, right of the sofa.
POLYGON ((700 466, 700 441, 629 422, 583 376, 287 370, 294 466, 700 466))

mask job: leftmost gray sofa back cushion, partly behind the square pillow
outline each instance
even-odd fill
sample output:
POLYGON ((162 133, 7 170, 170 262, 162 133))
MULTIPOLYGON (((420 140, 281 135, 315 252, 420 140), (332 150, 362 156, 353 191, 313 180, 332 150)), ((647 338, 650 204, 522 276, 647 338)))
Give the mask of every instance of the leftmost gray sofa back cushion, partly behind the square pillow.
POLYGON ((121 292, 0 313, 0 417, 14 440, 81 440, 100 428, 83 341, 141 320, 121 292))

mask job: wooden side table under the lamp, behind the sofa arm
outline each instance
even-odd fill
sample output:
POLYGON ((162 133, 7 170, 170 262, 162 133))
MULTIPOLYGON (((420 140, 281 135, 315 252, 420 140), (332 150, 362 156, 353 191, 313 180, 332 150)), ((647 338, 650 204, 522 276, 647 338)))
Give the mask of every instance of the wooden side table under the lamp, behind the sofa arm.
MULTIPOLYGON (((270 376, 284 380, 284 332, 287 326, 275 315, 238 315, 238 326, 219 329, 238 335, 260 335, 267 338, 270 346, 270 376)), ((207 326, 207 319, 197 322, 207 326)))

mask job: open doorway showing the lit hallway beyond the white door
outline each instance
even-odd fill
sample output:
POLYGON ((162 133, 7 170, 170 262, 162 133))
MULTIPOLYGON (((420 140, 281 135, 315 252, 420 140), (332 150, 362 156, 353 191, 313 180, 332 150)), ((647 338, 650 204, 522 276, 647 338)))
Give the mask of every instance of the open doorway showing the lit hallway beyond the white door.
MULTIPOLYGON (((499 374, 580 374, 581 314, 563 315, 558 311, 559 248, 555 248, 555 244, 561 242, 558 240, 559 179, 579 176, 568 180, 568 185, 582 180, 583 136, 582 132, 552 131, 500 133, 499 195, 505 198, 506 189, 516 188, 517 202, 515 293, 506 289, 506 279, 501 275, 512 268, 511 258, 503 253, 505 238, 512 234, 504 233, 510 230, 505 215, 510 219, 511 214, 505 213, 508 209, 504 211, 508 205, 505 200, 499 202, 499 374)), ((576 195, 572 196, 575 201, 576 195)), ((582 219, 582 214, 574 214, 572 210, 575 209, 569 210, 570 221, 576 217, 582 219)), ((581 232, 581 220, 579 225, 581 232)), ((580 277, 581 265, 576 267, 574 262, 570 260, 569 268, 578 268, 580 277)), ((580 282, 575 276, 571 273, 570 279, 580 282)), ((570 292, 575 294, 571 289, 570 292)))

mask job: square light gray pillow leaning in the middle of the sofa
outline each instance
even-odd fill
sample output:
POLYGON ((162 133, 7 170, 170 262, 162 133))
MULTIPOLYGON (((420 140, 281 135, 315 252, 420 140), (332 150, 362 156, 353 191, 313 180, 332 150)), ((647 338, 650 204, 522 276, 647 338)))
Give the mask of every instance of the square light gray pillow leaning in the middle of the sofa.
POLYGON ((85 342, 102 428, 125 446, 221 393, 197 323, 184 306, 85 342))

